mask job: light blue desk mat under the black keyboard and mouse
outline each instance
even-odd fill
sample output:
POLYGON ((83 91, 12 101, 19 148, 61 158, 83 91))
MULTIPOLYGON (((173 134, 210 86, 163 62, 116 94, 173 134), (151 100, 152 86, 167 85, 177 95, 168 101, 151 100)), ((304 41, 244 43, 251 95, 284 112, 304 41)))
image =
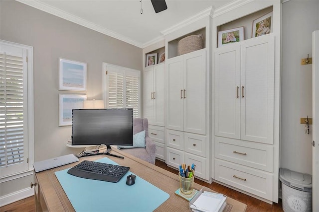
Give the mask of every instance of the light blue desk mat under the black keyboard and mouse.
MULTIPOLYGON (((96 160, 116 164, 105 157, 96 160)), ((136 176, 135 184, 126 185, 130 171, 117 183, 76 177, 69 169, 55 172, 64 192, 76 212, 150 212, 169 198, 169 194, 136 176)))

